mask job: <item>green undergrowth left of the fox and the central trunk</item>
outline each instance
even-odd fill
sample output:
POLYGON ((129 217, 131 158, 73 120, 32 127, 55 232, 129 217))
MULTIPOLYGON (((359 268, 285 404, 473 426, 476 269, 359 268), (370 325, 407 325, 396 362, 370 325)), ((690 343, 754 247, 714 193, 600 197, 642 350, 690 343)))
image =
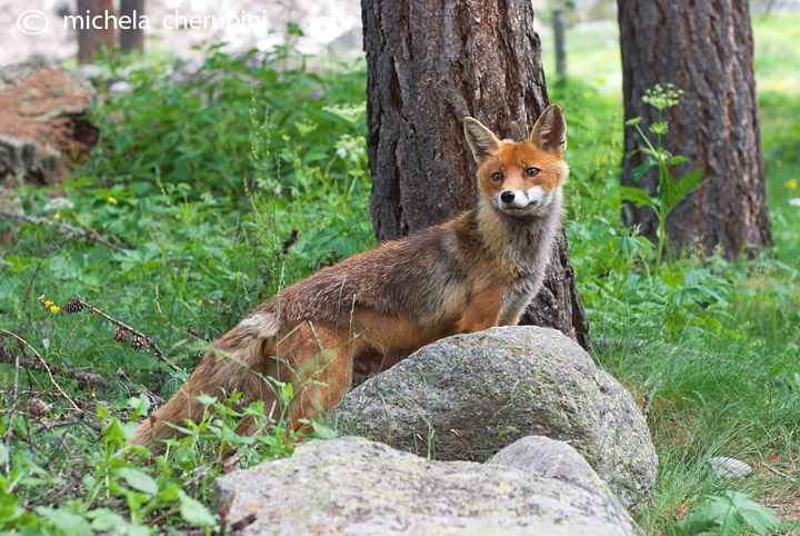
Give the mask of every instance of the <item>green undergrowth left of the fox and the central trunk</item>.
MULTIPOLYGON (((138 66, 132 91, 98 106, 101 140, 73 176, 16 191, 27 212, 101 239, 23 224, 0 257, 0 326, 30 341, 81 407, 53 396, 42 420, 20 413, 20 396, 11 421, 14 379, 0 365, 0 532, 149 534, 152 522, 210 530, 211 483, 228 459, 248 467, 290 454, 282 416, 269 419, 262 403, 234 409, 238 395, 203 398, 203 419, 180 425, 187 436, 152 464, 126 439, 150 409, 143 393, 174 393, 207 340, 288 282, 373 244, 366 73, 304 62, 287 48, 257 59, 214 47, 197 73, 138 66), (73 295, 147 334, 182 370, 118 343, 98 315, 66 312, 73 295), (96 393, 72 369, 111 386, 96 393), (238 435, 246 418, 261 433, 238 435)), ((48 385, 46 374, 19 375, 20 389, 48 385)))

